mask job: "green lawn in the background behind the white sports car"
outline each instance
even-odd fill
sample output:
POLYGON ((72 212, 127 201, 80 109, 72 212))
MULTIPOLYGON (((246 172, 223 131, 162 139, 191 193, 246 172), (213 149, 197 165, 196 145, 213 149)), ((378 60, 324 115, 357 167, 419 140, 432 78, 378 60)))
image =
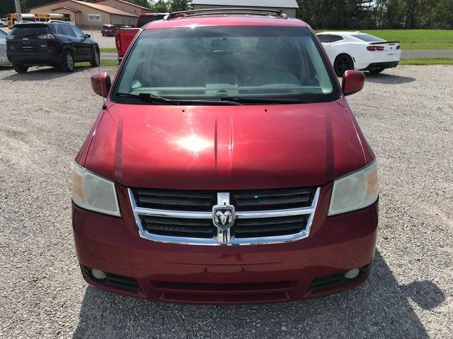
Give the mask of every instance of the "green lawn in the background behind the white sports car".
POLYGON ((360 32, 384 40, 398 40, 402 49, 453 49, 453 30, 360 30, 360 32))

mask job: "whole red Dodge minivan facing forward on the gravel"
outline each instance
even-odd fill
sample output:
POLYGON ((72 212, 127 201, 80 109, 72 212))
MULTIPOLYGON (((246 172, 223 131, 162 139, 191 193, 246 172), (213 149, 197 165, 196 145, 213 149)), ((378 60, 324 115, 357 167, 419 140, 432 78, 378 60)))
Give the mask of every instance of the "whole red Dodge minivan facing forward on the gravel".
POLYGON ((348 290, 377 236, 374 154, 306 23, 234 9, 146 25, 73 169, 84 279, 166 302, 286 302, 348 290))

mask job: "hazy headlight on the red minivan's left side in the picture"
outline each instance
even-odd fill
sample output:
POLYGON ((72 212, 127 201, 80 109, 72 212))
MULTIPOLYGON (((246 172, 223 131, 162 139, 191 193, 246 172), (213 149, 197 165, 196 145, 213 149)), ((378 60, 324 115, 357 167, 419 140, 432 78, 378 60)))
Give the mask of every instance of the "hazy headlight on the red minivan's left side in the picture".
POLYGON ((121 216, 115 183, 76 164, 72 167, 72 201, 86 210, 121 216))

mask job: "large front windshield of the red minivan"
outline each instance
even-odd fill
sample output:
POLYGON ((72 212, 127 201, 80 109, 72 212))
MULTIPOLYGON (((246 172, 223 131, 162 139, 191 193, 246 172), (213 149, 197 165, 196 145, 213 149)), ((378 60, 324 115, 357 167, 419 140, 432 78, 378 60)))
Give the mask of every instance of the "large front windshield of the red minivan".
POLYGON ((338 89, 307 28, 222 26, 141 32, 113 90, 115 102, 326 102, 338 89), (234 101, 233 100, 233 101, 234 101))

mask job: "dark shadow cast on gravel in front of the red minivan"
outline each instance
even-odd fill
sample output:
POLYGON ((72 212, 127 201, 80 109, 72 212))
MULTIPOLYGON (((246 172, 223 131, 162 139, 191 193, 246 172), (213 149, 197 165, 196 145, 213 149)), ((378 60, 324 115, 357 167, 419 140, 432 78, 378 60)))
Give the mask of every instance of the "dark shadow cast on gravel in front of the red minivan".
POLYGON ((398 285, 377 251, 356 290, 287 304, 164 304, 86 289, 74 338, 428 338, 408 298, 444 300, 431 281, 398 285))

